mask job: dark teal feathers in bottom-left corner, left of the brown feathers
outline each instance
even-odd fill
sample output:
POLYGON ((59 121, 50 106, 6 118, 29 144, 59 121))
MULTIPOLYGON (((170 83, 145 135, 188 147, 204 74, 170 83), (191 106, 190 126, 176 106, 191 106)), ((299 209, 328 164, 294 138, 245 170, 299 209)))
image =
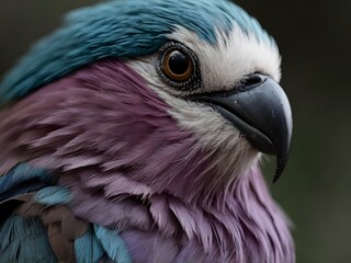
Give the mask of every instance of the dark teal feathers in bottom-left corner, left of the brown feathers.
POLYGON ((37 218, 11 216, 0 228, 0 262, 57 262, 37 218))

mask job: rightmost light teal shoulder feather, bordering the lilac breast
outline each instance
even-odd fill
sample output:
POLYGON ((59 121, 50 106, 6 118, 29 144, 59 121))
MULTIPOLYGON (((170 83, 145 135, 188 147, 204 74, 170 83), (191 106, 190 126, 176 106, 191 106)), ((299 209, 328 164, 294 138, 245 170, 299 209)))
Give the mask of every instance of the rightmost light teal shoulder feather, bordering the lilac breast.
POLYGON ((94 225, 94 232, 106 255, 116 263, 132 263, 127 247, 117 231, 94 225))

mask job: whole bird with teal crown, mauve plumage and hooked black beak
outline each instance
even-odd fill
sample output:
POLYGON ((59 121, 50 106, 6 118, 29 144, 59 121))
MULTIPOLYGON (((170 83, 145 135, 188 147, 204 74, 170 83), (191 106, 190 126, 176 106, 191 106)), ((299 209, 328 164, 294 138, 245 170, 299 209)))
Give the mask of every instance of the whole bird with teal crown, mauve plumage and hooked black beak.
POLYGON ((71 11, 0 82, 0 262, 295 262, 280 79, 228 0, 71 11))

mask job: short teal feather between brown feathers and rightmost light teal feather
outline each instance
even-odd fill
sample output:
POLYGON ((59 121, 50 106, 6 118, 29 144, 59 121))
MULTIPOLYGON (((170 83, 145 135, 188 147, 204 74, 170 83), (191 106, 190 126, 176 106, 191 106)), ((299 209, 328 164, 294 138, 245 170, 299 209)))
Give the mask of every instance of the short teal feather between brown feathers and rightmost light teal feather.
POLYGON ((90 227, 87 233, 75 240, 75 253, 77 263, 99 262, 103 256, 103 248, 90 227))

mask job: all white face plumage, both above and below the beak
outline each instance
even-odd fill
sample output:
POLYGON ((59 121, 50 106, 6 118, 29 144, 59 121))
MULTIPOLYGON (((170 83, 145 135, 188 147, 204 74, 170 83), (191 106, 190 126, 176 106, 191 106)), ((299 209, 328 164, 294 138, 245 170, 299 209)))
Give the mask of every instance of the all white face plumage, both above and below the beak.
MULTIPOLYGON (((195 33, 182 27, 178 27, 169 38, 184 44, 196 54, 206 92, 233 89, 245 76, 257 71, 280 80, 276 47, 259 43, 238 26, 229 35, 218 33, 217 45, 205 43, 195 33)), ((258 161, 258 151, 219 113, 207 105, 177 96, 178 92, 172 91, 176 88, 158 75, 155 67, 157 59, 158 56, 154 55, 129 60, 128 65, 170 105, 169 113, 179 125, 199 136, 200 147, 205 146, 210 151, 220 150, 223 155, 218 158, 218 169, 223 170, 223 174, 242 174, 258 161)))

